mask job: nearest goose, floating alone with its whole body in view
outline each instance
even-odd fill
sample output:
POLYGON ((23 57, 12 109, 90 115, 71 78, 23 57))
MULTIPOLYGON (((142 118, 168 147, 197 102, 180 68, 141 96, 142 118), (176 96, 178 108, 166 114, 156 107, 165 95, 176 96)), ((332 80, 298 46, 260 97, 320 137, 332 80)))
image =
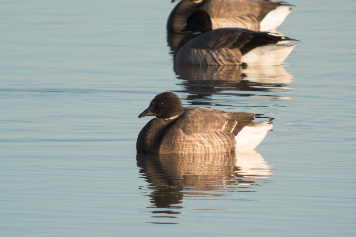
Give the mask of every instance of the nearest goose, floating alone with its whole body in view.
POLYGON ((263 114, 224 112, 206 107, 183 108, 180 98, 163 92, 138 118, 156 116, 137 137, 138 153, 203 154, 253 150, 270 130, 272 119, 252 122, 263 114))

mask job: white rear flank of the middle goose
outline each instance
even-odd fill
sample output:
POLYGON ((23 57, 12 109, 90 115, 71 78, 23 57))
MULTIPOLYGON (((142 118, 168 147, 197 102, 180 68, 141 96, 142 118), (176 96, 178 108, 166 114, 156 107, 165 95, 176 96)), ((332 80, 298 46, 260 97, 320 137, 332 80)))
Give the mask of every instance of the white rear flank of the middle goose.
POLYGON ((293 43, 260 46, 243 55, 241 62, 248 66, 281 65, 295 46, 293 43))

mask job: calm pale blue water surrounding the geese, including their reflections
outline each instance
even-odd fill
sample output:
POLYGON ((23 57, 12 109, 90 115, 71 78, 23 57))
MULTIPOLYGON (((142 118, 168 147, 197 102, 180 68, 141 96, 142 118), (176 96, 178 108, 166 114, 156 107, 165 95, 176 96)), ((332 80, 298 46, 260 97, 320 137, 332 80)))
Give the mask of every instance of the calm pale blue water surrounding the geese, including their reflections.
POLYGON ((286 64, 238 69, 173 68, 168 0, 0 1, 0 235, 355 236, 356 2, 289 3, 286 64), (274 129, 136 157, 163 91, 274 129))

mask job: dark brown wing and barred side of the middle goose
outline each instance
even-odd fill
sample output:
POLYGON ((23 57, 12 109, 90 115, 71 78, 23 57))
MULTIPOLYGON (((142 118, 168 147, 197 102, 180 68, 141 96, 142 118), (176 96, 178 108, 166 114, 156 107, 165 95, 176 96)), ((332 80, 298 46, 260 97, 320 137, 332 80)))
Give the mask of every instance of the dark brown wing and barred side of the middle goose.
POLYGON ((188 41, 178 50, 175 61, 188 64, 239 65, 242 55, 252 49, 285 40, 292 39, 242 28, 214 29, 188 41))

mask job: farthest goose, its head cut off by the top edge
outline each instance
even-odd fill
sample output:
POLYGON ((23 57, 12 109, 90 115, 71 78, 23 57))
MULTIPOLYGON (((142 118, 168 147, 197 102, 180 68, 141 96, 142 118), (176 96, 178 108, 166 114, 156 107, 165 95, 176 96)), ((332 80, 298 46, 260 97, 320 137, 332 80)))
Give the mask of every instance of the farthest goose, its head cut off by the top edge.
MULTIPOLYGON (((172 0, 175 1, 178 0, 172 0)), ((167 31, 179 33, 189 14, 196 9, 210 14, 213 29, 239 27, 272 31, 282 24, 293 7, 283 1, 269 0, 182 0, 168 17, 167 31)))

